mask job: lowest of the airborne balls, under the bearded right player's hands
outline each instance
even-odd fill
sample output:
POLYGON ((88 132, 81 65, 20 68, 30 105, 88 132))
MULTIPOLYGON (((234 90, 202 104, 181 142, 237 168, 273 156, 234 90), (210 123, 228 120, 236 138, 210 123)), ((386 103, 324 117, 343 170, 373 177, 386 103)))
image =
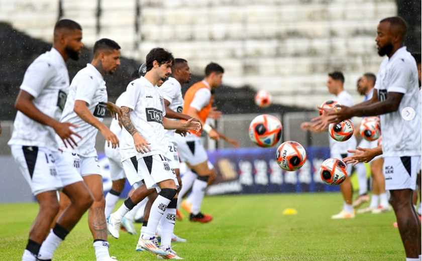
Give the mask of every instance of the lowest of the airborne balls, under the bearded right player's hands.
POLYGON ((339 185, 346 180, 346 163, 339 159, 329 158, 323 162, 320 168, 321 179, 328 185, 339 185))

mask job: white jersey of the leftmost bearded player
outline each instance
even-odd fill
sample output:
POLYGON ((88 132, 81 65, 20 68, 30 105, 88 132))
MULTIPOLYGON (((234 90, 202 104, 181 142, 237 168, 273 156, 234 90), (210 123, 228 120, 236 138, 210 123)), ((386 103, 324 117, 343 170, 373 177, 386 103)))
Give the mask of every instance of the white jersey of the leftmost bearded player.
MULTIPOLYGON (((31 94, 32 102, 42 113, 59 120, 69 90, 69 73, 60 53, 51 48, 28 67, 20 87, 31 94)), ((52 127, 41 124, 21 111, 14 121, 9 145, 45 147, 52 151, 59 148, 52 127)))

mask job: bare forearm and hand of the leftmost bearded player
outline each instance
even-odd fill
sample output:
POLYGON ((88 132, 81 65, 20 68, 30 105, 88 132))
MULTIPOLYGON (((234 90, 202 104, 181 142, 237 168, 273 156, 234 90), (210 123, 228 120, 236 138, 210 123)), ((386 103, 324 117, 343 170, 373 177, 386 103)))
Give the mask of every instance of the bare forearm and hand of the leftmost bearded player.
POLYGON ((28 92, 24 90, 20 90, 18 94, 18 98, 16 98, 15 108, 21 111, 22 113, 24 113, 25 115, 27 115, 28 117, 30 117, 31 119, 41 124, 52 127, 54 131, 57 133, 57 135, 60 137, 60 139, 62 139, 63 144, 66 146, 66 148, 67 148, 67 145, 69 145, 72 148, 73 146, 75 147, 78 146, 76 142, 73 140, 72 135, 75 135, 79 137, 80 139, 82 139, 82 137, 80 137, 75 132, 71 131, 71 129, 69 128, 70 126, 75 127, 75 128, 77 126, 69 122, 59 122, 47 116, 46 114, 42 113, 32 102, 33 99, 34 99, 34 96, 32 96, 31 94, 29 94, 28 92))

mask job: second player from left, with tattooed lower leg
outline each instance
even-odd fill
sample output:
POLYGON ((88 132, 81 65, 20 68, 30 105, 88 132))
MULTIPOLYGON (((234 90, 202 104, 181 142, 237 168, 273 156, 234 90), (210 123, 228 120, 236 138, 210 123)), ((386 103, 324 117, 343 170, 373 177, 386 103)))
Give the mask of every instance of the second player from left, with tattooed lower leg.
MULTIPOLYGON (((95 42, 93 59, 81 69, 70 84, 69 95, 63 109, 62 122, 69 121, 78 125, 76 132, 83 137, 77 140, 77 148, 65 148, 63 156, 73 164, 92 193, 94 202, 89 208, 88 225, 94 239, 93 247, 97 261, 112 260, 107 242, 107 223, 105 221, 105 199, 102 191, 102 176, 95 150, 95 136, 99 131, 108 146, 117 148, 119 140, 102 123, 107 109, 114 116, 120 114, 120 108, 108 102, 107 87, 103 79, 106 74, 113 74, 120 65, 120 46, 115 41, 103 38, 95 42)), ((69 200, 61 196, 61 204, 69 200)))

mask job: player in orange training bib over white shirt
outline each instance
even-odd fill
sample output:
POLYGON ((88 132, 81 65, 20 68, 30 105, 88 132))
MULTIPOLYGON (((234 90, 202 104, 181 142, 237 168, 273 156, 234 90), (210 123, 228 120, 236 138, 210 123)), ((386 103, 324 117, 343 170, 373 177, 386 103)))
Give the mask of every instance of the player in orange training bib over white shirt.
MULTIPOLYGON (((216 141, 220 138, 219 134, 206 124, 205 120, 212 107, 211 90, 221 85, 223 73, 224 69, 219 64, 209 63, 205 67, 205 78, 190 86, 183 99, 182 113, 198 119, 209 138, 216 141)), ((190 132, 186 137, 175 136, 175 141, 179 149, 180 159, 186 162, 189 168, 198 175, 192 186, 192 212, 189 215, 189 220, 209 222, 213 220, 213 217, 202 214, 200 209, 212 170, 208 167, 208 156, 201 143, 200 132, 196 134, 190 132)))

